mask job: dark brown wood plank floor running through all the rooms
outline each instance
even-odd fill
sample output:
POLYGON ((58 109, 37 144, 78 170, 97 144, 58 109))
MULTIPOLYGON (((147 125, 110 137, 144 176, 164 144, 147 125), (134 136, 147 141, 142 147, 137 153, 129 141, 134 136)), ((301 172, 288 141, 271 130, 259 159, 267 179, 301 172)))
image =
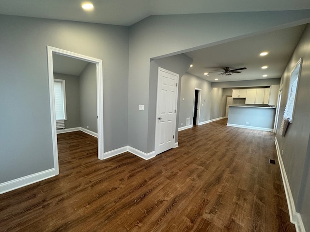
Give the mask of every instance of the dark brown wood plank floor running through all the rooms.
POLYGON ((274 134, 226 122, 151 160, 98 160, 96 138, 59 134, 60 174, 0 195, 0 231, 294 232, 274 134))

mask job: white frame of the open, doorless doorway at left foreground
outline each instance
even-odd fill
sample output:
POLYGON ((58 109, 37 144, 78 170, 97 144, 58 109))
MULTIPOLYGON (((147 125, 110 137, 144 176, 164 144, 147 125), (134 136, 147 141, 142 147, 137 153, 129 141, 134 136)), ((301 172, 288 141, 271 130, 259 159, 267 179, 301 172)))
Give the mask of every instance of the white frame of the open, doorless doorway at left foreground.
POLYGON ((98 128, 98 159, 104 159, 103 150, 103 67, 102 60, 92 57, 87 57, 78 53, 69 52, 60 48, 47 46, 47 65, 48 65, 48 83, 49 83, 49 103, 50 103, 50 118, 52 125, 52 142, 54 155, 55 175, 59 174, 58 163, 58 146, 57 146, 57 131, 56 131, 56 114, 55 114, 55 98, 54 98, 54 73, 53 73, 53 54, 58 54, 66 57, 85 60, 96 64, 96 79, 97 79, 97 128, 98 128))

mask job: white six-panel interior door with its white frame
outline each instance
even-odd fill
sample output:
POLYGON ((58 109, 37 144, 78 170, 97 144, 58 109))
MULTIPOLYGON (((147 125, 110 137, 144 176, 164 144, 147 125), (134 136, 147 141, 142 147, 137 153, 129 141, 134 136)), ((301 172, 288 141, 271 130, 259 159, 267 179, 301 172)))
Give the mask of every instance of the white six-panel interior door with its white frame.
POLYGON ((155 153, 174 147, 179 75, 158 68, 155 153))

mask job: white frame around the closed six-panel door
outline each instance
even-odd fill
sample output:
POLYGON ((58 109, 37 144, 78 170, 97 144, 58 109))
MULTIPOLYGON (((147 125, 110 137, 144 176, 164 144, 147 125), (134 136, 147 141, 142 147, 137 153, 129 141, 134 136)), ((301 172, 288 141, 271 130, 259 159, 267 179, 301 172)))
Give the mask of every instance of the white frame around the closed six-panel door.
MULTIPOLYGON (((179 74, 177 74, 177 73, 173 73, 173 72, 171 72, 171 71, 169 71, 169 70, 166 70, 166 69, 163 69, 163 68, 160 68, 160 67, 158 67, 158 74, 157 74, 157 96, 156 96, 156 117, 155 117, 155 155, 158 155, 158 147, 157 147, 157 141, 158 141, 158 138, 157 138, 157 136, 158 136, 158 133, 159 133, 159 128, 158 128, 158 123, 157 123, 157 121, 158 121, 158 112, 159 112, 159 107, 158 107, 158 101, 159 101, 159 99, 158 99, 158 83, 159 83, 159 73, 160 73, 160 71, 163 71, 163 72, 166 72, 166 73, 170 73, 170 74, 172 74, 172 75, 176 75, 177 76, 177 85, 179 85, 179 74)), ((176 91, 175 91, 175 114, 174 114, 174 118, 173 118, 173 120, 174 120, 174 123, 173 123, 173 129, 174 129, 174 131, 176 131, 176 112, 178 112, 177 111, 177 107, 178 107, 178 92, 179 92, 179 86, 177 86, 176 87, 176 91)), ((174 132, 175 133, 175 132, 174 132)), ((174 134, 174 138, 172 139, 172 144, 173 144, 173 147, 175 147, 175 134, 174 134)))

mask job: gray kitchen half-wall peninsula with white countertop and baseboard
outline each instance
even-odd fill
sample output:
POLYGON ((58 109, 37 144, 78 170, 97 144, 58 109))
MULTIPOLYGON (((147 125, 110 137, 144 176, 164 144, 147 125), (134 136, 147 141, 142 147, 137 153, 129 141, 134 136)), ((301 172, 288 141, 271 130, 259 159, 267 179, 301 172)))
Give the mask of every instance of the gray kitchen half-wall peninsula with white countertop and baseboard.
POLYGON ((229 106, 227 126, 273 131, 276 108, 259 106, 229 106))

